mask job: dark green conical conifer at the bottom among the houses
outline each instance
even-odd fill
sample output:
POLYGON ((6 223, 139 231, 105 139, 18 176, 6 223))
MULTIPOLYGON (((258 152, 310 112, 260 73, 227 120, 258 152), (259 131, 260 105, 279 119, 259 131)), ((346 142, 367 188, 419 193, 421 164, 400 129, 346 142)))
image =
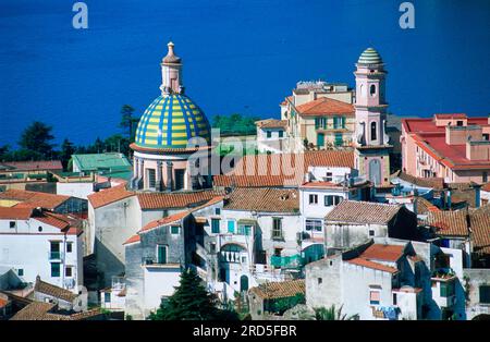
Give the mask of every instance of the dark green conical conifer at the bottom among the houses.
POLYGON ((193 269, 182 272, 179 286, 160 308, 151 313, 150 320, 217 320, 237 319, 232 310, 217 307, 218 300, 206 291, 199 276, 193 269))

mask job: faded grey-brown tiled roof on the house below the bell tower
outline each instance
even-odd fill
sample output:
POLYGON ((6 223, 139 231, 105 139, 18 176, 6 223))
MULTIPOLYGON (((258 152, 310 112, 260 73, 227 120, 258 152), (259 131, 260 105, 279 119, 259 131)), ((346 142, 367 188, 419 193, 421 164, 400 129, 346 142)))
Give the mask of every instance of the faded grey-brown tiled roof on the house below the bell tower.
POLYGON ((403 207, 371 201, 342 200, 327 216, 327 221, 353 223, 388 223, 403 207))

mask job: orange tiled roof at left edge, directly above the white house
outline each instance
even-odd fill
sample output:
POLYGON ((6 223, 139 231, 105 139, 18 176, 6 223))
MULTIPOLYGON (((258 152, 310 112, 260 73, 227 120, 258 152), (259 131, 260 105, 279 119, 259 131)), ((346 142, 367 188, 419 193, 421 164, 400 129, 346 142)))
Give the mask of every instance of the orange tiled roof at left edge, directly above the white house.
POLYGON ((42 207, 46 209, 56 209, 64 201, 70 199, 70 196, 11 188, 3 193, 0 193, 0 199, 22 201, 22 205, 17 206, 23 208, 42 207))

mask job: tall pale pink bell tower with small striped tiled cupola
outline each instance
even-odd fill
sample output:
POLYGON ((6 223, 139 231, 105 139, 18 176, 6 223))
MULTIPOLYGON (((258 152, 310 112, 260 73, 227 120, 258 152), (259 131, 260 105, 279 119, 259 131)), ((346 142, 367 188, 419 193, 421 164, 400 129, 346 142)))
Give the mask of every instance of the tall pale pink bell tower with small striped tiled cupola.
POLYGON ((356 63, 355 167, 376 186, 390 182, 390 149, 387 134, 384 63, 379 53, 366 49, 356 63))

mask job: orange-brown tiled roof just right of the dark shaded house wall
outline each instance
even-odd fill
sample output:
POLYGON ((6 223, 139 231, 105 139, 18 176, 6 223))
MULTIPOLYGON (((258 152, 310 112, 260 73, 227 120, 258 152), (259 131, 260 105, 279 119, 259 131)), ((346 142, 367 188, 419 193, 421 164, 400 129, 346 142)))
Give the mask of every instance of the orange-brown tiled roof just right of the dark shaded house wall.
POLYGON ((468 236, 468 222, 465 210, 430 211, 427 221, 442 236, 468 236))

